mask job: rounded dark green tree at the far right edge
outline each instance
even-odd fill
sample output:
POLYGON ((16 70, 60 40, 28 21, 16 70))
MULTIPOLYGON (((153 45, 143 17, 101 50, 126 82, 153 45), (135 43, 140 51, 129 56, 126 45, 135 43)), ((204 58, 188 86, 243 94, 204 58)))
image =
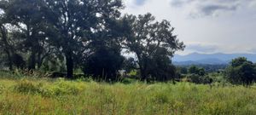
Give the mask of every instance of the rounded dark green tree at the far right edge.
POLYGON ((256 80, 256 66, 245 57, 239 57, 230 62, 226 69, 226 77, 230 83, 250 85, 256 80))

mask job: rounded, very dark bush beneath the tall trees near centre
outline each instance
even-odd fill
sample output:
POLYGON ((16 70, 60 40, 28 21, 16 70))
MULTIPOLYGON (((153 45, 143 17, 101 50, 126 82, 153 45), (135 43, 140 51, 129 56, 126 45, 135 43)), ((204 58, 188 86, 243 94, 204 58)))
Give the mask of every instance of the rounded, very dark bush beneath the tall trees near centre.
POLYGON ((84 74, 93 76, 108 82, 117 81, 118 71, 122 66, 124 57, 119 50, 98 49, 95 54, 90 55, 84 62, 84 74))

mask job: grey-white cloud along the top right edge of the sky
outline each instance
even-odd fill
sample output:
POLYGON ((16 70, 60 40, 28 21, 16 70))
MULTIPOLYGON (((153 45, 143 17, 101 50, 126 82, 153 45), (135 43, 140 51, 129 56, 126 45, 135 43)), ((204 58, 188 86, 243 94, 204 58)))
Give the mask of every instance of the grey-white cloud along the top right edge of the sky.
POLYGON ((256 0, 169 0, 172 7, 189 9, 193 18, 218 16, 225 12, 236 11, 242 7, 255 9, 256 0), (192 9, 191 9, 192 8, 192 9))

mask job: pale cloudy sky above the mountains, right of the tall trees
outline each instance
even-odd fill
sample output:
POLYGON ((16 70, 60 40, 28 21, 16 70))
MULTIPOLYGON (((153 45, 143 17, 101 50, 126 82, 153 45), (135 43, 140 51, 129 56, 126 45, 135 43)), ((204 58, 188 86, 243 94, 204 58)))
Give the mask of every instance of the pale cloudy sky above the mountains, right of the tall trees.
POLYGON ((125 0, 125 7, 170 20, 187 46, 178 54, 256 53, 256 0, 125 0))

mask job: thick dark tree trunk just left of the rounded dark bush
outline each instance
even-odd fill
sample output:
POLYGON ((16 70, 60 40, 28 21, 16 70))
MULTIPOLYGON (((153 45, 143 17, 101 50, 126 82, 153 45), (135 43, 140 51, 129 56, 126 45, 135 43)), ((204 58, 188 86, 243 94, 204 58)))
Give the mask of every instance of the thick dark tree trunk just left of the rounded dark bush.
POLYGON ((66 54, 67 78, 73 78, 73 53, 66 54))

